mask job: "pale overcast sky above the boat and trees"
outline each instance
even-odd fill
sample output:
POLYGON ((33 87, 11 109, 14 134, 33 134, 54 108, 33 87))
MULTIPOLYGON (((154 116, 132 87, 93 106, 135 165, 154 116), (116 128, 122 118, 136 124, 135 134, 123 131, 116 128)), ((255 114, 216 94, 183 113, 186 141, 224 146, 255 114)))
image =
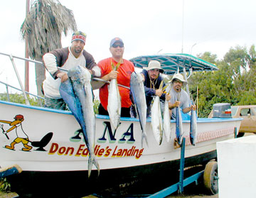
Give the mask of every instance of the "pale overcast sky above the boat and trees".
MULTIPOLYGON (((31 0, 32 1, 32 0, 31 0)), ((96 62, 110 57, 110 40, 124 41, 124 58, 155 53, 209 51, 218 59, 236 45, 256 43, 254 0, 60 0, 73 10, 78 30, 87 33, 85 50, 96 62), (183 45, 182 45, 183 44, 183 45)), ((26 16, 26 0, 1 1, 0 52, 24 57, 20 28, 26 16)), ((63 38, 70 45, 72 33, 63 38)), ((24 64, 16 66, 23 82, 24 64)), ((17 86, 8 57, 0 55, 0 80, 17 86)), ((33 65, 31 66, 33 67, 33 65)), ((33 77, 33 68, 30 69, 33 77)), ((34 91, 35 80, 30 80, 34 91)), ((3 86, 0 84, 0 92, 3 86)))

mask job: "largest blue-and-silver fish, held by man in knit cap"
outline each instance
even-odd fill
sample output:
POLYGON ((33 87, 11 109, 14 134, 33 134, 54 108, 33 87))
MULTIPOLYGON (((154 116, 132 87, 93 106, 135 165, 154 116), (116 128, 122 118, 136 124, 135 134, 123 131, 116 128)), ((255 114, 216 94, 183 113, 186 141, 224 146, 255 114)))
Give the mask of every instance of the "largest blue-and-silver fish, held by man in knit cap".
POLYGON ((97 163, 95 148, 95 113, 93 110, 92 87, 90 84, 90 72, 80 66, 68 71, 69 80, 60 85, 60 94, 73 112, 75 119, 82 128, 85 143, 89 150, 88 176, 92 170, 92 164, 97 167, 98 175, 100 166, 97 163))

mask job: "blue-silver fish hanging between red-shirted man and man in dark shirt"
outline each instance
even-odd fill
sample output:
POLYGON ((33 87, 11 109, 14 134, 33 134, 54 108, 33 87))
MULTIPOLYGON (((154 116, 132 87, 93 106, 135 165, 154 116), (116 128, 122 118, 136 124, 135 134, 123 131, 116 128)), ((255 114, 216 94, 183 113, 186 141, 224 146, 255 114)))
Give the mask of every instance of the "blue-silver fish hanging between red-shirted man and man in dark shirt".
POLYGON ((146 137, 146 96, 144 90, 143 77, 141 74, 136 74, 136 72, 132 72, 131 81, 130 81, 130 90, 132 92, 132 98, 134 100, 134 104, 137 109, 137 113, 139 114, 139 123, 142 127, 142 147, 143 147, 143 139, 147 143, 146 137))

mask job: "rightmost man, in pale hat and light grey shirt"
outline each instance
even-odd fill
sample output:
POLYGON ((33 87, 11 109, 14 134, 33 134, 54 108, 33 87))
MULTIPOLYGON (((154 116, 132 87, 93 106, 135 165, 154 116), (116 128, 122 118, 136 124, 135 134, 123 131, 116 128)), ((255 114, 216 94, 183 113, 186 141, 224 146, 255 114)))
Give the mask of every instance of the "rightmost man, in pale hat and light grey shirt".
POLYGON ((189 97, 181 87, 186 85, 187 82, 181 74, 175 74, 171 79, 171 99, 169 101, 169 109, 171 119, 176 118, 176 107, 180 106, 183 114, 187 114, 191 109, 196 110, 196 105, 189 106, 189 97))

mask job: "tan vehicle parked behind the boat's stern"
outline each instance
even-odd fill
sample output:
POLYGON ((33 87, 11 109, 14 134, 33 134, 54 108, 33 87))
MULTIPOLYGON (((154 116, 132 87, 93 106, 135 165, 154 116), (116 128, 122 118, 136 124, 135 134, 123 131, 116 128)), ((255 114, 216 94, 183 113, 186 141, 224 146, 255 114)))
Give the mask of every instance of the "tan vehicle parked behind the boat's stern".
MULTIPOLYGON (((238 137, 245 133, 256 133, 256 105, 231 106, 231 116, 233 118, 242 118, 238 137)), ((208 118, 213 117, 213 111, 210 111, 208 118)))

